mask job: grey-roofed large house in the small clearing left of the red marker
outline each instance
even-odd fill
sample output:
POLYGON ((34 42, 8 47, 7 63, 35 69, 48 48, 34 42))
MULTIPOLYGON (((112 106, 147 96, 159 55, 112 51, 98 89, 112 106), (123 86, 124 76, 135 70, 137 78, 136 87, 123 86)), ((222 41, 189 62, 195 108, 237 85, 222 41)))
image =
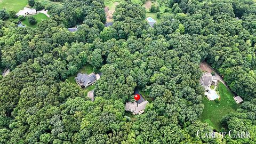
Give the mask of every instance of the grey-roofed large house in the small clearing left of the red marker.
POLYGON ((78 73, 77 77, 75 77, 76 83, 81 86, 81 87, 87 87, 90 85, 93 85, 97 80, 100 79, 100 75, 99 74, 82 74, 82 73, 78 73))

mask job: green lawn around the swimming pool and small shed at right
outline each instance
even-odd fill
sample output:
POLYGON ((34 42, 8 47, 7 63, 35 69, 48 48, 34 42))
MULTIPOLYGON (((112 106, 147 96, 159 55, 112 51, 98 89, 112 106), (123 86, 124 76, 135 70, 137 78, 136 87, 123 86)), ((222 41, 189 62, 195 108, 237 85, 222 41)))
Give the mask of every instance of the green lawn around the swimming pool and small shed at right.
POLYGON ((233 99, 234 94, 222 83, 218 84, 217 93, 220 95, 220 102, 210 101, 203 97, 204 110, 201 121, 209 123, 213 129, 220 131, 222 125, 220 120, 231 111, 235 111, 239 105, 233 99))

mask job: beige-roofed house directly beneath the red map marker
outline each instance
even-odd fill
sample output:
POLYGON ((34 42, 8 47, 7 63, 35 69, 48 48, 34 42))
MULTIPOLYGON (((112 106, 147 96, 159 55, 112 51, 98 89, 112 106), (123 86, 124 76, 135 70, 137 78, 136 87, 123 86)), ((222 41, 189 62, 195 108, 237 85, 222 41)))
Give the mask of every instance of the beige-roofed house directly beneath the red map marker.
POLYGON ((125 103, 125 110, 131 111, 133 115, 142 114, 144 113, 144 109, 146 108, 146 105, 148 101, 143 99, 140 95, 140 99, 137 102, 126 102, 125 103), (138 105, 137 105, 138 102, 138 105))

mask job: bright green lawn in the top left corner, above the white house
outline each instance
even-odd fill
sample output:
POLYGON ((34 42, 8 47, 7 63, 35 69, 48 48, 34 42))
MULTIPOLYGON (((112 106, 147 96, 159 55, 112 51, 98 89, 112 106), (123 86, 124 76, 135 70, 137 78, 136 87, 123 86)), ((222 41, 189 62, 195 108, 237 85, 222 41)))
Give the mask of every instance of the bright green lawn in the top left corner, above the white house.
POLYGON ((0 0, 0 9, 5 8, 7 12, 14 10, 19 12, 28 4, 28 0, 0 0))

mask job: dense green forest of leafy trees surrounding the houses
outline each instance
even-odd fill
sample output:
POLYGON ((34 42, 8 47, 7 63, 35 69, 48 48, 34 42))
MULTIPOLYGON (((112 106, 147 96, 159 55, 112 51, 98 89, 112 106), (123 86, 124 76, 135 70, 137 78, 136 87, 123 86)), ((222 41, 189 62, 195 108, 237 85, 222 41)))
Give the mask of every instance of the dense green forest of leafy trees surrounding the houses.
POLYGON ((164 0, 171 11, 154 28, 129 0, 110 27, 103 0, 61 3, 37 28, 0 21, 0 69, 11 69, 0 76, 0 143, 256 143, 255 2, 164 0), (213 131, 199 120, 202 60, 244 99, 221 131, 251 138, 197 137, 213 131), (102 73, 94 102, 67 80, 87 64, 102 73), (135 87, 154 101, 131 121, 135 87))

